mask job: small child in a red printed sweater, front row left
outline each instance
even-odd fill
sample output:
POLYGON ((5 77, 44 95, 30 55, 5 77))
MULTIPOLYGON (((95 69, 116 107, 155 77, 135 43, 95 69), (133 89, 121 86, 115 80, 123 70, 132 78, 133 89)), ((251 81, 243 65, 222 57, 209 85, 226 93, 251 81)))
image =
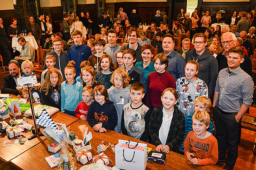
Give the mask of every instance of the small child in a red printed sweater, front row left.
POLYGON ((89 106, 92 103, 92 97, 93 97, 93 87, 91 87, 90 85, 85 86, 82 89, 83 101, 80 101, 80 103, 78 104, 75 110, 77 118, 87 121, 87 113, 88 113, 89 106))

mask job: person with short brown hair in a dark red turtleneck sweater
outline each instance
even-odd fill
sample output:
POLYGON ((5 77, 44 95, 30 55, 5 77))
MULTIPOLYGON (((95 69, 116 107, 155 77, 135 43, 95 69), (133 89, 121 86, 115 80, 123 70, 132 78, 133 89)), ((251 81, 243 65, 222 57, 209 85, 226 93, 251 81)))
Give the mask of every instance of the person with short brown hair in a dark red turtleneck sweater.
POLYGON ((147 97, 148 107, 161 106, 161 94, 164 89, 176 87, 175 80, 166 69, 168 68, 168 58, 164 54, 157 54, 154 58, 155 72, 149 73, 147 77, 147 97))

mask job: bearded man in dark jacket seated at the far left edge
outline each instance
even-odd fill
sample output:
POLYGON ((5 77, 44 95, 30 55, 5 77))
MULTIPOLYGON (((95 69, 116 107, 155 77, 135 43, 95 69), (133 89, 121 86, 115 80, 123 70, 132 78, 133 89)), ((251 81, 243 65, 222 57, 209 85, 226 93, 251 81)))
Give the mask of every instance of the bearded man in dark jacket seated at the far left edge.
POLYGON ((8 68, 9 68, 9 72, 10 74, 5 75, 3 78, 3 84, 1 86, 1 93, 2 94, 13 94, 13 95, 18 95, 19 93, 21 94, 21 92, 19 92, 16 89, 16 86, 18 86, 18 81, 17 78, 21 78, 23 73, 20 72, 20 66, 18 64, 18 62, 16 61, 11 61, 8 64, 8 68))

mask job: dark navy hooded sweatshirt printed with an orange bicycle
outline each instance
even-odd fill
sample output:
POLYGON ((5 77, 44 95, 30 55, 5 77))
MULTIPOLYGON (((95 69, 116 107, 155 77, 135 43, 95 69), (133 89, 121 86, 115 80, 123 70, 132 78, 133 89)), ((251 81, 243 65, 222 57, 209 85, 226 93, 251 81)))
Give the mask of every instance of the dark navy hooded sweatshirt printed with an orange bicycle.
POLYGON ((100 105, 97 101, 93 101, 87 113, 87 120, 91 127, 102 123, 102 127, 105 129, 115 130, 117 125, 117 112, 114 103, 107 100, 103 105, 100 105), (95 119, 95 117, 97 119, 95 119))

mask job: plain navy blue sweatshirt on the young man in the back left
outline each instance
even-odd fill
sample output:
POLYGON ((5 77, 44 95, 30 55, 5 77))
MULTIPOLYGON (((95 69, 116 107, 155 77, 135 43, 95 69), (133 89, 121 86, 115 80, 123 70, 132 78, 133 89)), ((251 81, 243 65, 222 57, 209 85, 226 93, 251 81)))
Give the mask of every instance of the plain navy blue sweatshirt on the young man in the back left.
POLYGON ((91 48, 83 43, 81 45, 73 45, 69 48, 68 60, 76 62, 76 77, 80 76, 80 64, 85 60, 88 61, 89 57, 92 55, 91 48))

